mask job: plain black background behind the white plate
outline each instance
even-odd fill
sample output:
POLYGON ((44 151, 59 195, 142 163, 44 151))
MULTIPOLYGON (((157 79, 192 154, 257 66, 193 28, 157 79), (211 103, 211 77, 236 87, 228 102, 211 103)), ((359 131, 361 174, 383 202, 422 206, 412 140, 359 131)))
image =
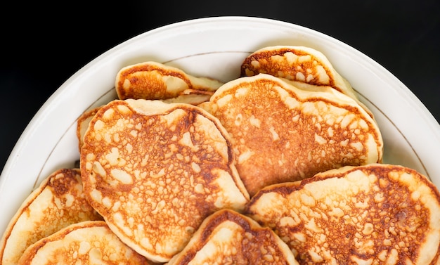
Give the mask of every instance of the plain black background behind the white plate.
POLYGON ((273 18, 344 41, 392 72, 440 121, 439 2, 8 2, 1 14, 0 170, 41 105, 86 63, 145 31, 209 16, 273 18))

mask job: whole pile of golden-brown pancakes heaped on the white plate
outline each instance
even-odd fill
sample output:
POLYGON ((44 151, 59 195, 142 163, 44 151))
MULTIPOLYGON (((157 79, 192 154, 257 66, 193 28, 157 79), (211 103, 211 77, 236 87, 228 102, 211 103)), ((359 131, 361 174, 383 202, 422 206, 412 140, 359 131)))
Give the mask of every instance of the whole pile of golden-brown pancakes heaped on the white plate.
POLYGON ((32 235, 36 191, 0 264, 436 264, 439 191, 382 164, 372 112, 328 59, 271 46, 240 67, 225 84, 156 62, 122 68, 119 98, 78 119, 80 169, 64 170, 81 195, 38 195, 84 218, 32 235), (82 212, 66 206, 76 201, 82 212))

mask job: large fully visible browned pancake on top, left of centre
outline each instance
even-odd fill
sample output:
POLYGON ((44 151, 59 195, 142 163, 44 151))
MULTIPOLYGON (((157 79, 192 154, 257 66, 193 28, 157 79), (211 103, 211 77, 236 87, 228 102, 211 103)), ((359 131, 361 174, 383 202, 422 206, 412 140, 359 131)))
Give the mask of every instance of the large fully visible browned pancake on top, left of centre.
POLYGON ((84 193, 121 240, 165 262, 205 217, 249 195, 227 132, 194 105, 127 99, 104 105, 81 150, 84 193))

